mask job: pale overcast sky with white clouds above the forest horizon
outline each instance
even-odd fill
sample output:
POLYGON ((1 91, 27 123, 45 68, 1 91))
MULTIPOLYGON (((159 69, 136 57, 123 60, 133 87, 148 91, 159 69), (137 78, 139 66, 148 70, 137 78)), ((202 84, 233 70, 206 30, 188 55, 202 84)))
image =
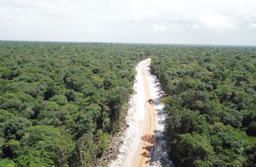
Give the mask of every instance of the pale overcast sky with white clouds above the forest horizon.
POLYGON ((0 0, 0 40, 256 45, 256 0, 0 0))

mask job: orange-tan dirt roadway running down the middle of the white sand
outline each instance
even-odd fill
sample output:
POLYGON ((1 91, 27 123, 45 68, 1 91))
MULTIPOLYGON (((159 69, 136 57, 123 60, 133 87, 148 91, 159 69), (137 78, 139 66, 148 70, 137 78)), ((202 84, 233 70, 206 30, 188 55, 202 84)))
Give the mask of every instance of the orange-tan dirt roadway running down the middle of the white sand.
MULTIPOLYGON (((150 158, 150 148, 153 146, 154 142, 154 130, 155 130, 155 113, 154 113, 154 105, 148 102, 149 99, 152 99, 151 92, 149 89, 149 82, 147 79, 147 73, 145 71, 145 67, 150 64, 150 59, 146 61, 140 69, 143 87, 145 93, 145 109, 146 109, 146 120, 144 123, 144 131, 141 137, 141 144, 137 148, 136 155, 133 158, 132 164, 129 166, 133 167, 143 167, 148 166, 149 158, 150 158)), ((143 105, 143 104, 141 104, 143 105)), ((140 129, 143 129, 143 124, 139 125, 140 129)))

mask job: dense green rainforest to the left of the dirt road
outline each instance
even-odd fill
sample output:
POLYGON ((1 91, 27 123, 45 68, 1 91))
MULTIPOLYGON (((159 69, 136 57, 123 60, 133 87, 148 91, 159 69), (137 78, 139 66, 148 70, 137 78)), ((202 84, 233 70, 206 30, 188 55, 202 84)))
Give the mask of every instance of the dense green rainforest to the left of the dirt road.
POLYGON ((94 166, 124 125, 141 50, 0 42, 0 166, 94 166))

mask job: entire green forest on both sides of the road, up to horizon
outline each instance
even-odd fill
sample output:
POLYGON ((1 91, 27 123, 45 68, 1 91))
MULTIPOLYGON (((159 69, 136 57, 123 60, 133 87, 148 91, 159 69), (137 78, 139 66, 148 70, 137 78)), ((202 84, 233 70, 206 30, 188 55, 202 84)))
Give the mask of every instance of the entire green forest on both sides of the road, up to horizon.
POLYGON ((0 41, 0 166, 96 166, 148 57, 175 166, 256 166, 255 47, 11 41, 0 41))

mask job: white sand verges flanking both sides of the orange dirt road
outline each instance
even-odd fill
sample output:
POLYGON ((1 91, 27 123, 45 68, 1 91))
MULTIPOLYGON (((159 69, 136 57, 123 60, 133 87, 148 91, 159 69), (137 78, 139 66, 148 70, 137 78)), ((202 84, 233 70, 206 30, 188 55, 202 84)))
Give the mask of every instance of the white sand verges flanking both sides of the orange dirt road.
POLYGON ((151 91, 151 95, 154 101, 157 104, 154 104, 155 114, 156 110, 160 110, 160 115, 155 115, 156 118, 156 134, 155 139, 159 141, 159 145, 155 146, 151 150, 151 160, 149 166, 172 166, 172 162, 168 160, 168 154, 166 151, 166 141, 164 140, 164 105, 159 102, 159 96, 164 94, 161 90, 160 83, 158 82, 156 76, 150 74, 150 62, 151 59, 146 59, 141 61, 136 67, 137 75, 135 76, 136 81, 133 85, 133 88, 137 94, 133 95, 133 104, 132 97, 130 99, 130 108, 127 112, 127 116, 125 117, 126 124, 129 125, 126 128, 123 136, 123 143, 119 148, 119 155, 115 160, 113 160, 109 167, 124 167, 124 166, 132 166, 134 158, 136 157, 137 150, 140 145, 140 138, 143 135, 145 120, 146 120, 146 112, 145 112, 145 94, 143 88, 142 75, 139 72, 141 66, 146 63, 148 64, 145 71, 147 72, 147 79, 149 82, 149 88, 151 91), (139 128, 139 125, 143 128, 139 128))

